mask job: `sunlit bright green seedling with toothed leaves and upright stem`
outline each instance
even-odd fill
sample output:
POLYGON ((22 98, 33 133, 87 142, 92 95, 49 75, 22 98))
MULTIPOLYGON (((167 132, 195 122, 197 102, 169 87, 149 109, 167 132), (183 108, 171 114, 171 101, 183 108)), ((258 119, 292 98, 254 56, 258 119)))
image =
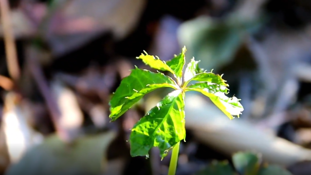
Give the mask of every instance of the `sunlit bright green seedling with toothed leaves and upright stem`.
POLYGON ((191 59, 183 74, 186 48, 173 59, 165 62, 157 56, 141 54, 141 59, 151 68, 169 71, 175 80, 161 72, 151 72, 135 67, 125 77, 110 100, 110 119, 115 121, 147 93, 158 88, 173 88, 155 107, 138 121, 129 137, 130 155, 148 157, 149 150, 155 146, 160 149, 162 159, 172 150, 168 175, 175 175, 179 144, 185 139, 184 98, 187 91, 198 91, 206 95, 223 111, 229 119, 243 111, 239 99, 226 96, 229 85, 221 75, 206 72, 199 68, 200 61, 191 59), (196 83, 188 84, 192 81, 196 83))

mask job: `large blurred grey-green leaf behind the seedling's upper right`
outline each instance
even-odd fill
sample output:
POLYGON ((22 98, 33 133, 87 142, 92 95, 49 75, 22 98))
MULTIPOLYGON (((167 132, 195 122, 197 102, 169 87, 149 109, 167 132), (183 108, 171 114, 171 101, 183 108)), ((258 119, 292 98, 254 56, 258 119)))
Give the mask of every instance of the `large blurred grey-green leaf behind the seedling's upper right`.
POLYGON ((198 17, 183 22, 178 39, 187 46, 186 56, 201 60, 204 70, 219 70, 233 60, 245 35, 256 32, 264 21, 261 16, 250 21, 232 15, 221 19, 198 17))

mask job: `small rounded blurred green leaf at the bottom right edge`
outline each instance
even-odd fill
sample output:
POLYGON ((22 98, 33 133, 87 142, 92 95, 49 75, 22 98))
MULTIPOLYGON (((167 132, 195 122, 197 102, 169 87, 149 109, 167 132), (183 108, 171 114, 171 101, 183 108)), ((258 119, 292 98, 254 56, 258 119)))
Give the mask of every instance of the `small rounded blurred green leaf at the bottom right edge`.
POLYGON ((240 175, 257 175, 261 163, 258 156, 251 152, 236 153, 232 161, 240 175))

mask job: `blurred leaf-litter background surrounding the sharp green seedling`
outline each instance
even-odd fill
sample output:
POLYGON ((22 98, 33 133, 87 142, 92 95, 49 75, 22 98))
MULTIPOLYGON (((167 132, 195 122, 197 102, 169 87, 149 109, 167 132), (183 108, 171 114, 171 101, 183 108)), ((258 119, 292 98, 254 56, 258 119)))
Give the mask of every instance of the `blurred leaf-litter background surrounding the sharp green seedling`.
POLYGON ((183 46, 244 111, 230 121, 188 93, 176 175, 238 151, 311 174, 311 1, 0 0, 0 16, 1 175, 166 175, 170 155, 130 157, 127 142, 166 91, 111 123, 109 101, 134 65, 151 70, 144 50, 183 46))

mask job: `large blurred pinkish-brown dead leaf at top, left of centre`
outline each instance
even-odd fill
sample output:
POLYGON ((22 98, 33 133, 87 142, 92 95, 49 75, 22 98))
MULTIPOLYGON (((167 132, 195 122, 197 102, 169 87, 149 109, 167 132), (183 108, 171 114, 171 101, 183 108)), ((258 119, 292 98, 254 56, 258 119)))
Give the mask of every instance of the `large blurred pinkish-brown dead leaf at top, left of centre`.
POLYGON ((62 55, 112 31, 122 39, 135 27, 145 0, 67 0, 46 20, 41 33, 55 55, 62 55))

